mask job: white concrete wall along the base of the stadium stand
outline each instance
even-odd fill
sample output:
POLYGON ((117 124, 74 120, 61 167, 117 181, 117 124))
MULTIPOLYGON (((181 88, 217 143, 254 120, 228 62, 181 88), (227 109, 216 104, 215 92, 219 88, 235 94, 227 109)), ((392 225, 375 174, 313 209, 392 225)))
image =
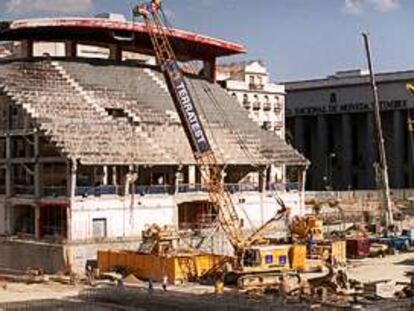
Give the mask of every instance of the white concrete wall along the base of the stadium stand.
MULTIPOLYGON (((280 194, 294 215, 301 213, 299 192, 280 194)), ((71 211, 71 241, 93 240, 93 219, 106 219, 107 237, 140 237, 148 225, 178 225, 180 202, 207 200, 206 194, 147 195, 123 199, 116 196, 77 198, 71 211)), ((242 192, 232 196, 245 226, 257 227, 270 219, 280 206, 272 193, 242 192)))

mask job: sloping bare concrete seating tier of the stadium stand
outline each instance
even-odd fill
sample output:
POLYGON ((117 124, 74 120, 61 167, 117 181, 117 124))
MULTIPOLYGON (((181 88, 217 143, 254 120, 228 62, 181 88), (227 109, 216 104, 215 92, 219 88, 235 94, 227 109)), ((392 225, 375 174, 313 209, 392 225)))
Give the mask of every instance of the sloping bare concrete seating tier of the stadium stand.
MULTIPOLYGON (((218 85, 186 77, 223 164, 303 164, 261 130, 218 85)), ((155 67, 106 60, 0 63, 0 86, 62 151, 85 164, 192 164, 194 158, 155 67)))

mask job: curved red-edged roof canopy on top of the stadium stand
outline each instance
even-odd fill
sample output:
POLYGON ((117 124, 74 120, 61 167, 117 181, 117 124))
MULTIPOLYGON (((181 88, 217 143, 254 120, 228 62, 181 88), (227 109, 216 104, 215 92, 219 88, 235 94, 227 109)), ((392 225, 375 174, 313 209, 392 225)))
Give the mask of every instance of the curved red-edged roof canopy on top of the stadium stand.
MULTIPOLYGON (((2 22, 0 41, 65 41, 83 44, 118 44, 124 50, 153 54, 144 24, 104 18, 46 18, 2 22)), ((211 60, 245 53, 244 47, 220 39, 171 29, 171 43, 180 60, 211 60)))

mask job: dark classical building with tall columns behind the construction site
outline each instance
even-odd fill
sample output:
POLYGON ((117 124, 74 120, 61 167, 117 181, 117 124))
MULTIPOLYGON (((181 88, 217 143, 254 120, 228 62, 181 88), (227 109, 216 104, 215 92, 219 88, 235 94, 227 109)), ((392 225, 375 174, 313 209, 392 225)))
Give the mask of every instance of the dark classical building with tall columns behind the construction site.
MULTIPOLYGON (((414 71, 377 75, 390 185, 413 187, 407 127, 414 71)), ((368 72, 340 71, 322 79, 285 83, 288 139, 311 161, 309 190, 373 189, 378 148, 368 72)))

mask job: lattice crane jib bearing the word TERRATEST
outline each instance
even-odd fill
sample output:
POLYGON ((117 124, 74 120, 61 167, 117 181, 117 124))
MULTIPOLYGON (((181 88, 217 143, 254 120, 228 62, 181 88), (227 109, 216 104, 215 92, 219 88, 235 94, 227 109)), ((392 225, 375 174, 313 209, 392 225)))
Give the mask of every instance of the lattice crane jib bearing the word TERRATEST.
POLYGON ((189 88, 169 41, 170 30, 160 17, 160 1, 153 0, 134 9, 134 16, 144 19, 158 64, 161 66, 175 108, 190 142, 194 158, 201 168, 208 168, 203 181, 209 199, 218 210, 218 219, 223 231, 236 252, 243 248, 240 219, 230 194, 222 182, 221 168, 208 141, 189 88))

